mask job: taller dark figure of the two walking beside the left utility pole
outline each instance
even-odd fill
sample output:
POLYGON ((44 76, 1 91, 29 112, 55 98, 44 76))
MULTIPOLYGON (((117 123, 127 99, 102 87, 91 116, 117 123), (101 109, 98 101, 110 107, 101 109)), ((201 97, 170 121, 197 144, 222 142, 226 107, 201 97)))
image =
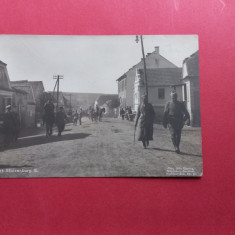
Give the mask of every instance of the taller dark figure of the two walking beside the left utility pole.
POLYGON ((52 99, 50 98, 47 103, 44 105, 44 118, 43 124, 46 123, 46 136, 52 135, 52 128, 55 122, 55 114, 54 114, 55 106, 52 103, 52 99))

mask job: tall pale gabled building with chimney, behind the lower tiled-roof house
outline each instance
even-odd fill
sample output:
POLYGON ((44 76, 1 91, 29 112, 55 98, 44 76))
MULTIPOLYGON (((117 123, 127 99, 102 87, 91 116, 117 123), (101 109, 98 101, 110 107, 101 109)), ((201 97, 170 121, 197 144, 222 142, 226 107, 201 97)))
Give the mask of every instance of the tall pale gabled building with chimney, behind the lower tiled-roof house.
MULTIPOLYGON (((147 69, 177 68, 176 65, 160 55, 159 47, 155 47, 155 51, 147 54, 145 62, 147 69)), ((129 106, 133 108, 136 71, 143 68, 144 62, 141 60, 116 80, 118 83, 118 96, 122 107, 129 106)))

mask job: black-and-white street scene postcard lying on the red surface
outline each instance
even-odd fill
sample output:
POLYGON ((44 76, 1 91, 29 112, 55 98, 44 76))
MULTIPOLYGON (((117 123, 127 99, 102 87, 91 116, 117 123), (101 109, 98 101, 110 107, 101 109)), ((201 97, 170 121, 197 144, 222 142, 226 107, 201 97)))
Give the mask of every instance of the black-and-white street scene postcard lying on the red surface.
POLYGON ((197 35, 0 35, 0 178, 202 172, 197 35))

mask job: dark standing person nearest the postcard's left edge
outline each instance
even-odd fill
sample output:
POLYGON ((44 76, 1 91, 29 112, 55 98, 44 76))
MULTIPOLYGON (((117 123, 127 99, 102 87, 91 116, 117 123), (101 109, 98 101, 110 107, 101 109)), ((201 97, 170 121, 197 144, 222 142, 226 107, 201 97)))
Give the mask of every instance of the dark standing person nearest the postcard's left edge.
POLYGON ((11 111, 11 105, 6 106, 6 111, 3 115, 3 133, 4 147, 7 148, 10 143, 16 142, 18 139, 20 123, 18 115, 11 111))

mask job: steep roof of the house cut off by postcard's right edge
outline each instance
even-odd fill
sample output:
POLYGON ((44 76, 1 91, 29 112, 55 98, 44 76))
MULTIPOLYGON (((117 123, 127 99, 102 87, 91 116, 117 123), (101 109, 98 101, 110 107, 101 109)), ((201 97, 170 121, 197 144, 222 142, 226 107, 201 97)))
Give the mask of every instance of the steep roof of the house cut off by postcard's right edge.
POLYGON ((199 51, 186 58, 183 63, 187 66, 188 76, 199 76, 199 51))

